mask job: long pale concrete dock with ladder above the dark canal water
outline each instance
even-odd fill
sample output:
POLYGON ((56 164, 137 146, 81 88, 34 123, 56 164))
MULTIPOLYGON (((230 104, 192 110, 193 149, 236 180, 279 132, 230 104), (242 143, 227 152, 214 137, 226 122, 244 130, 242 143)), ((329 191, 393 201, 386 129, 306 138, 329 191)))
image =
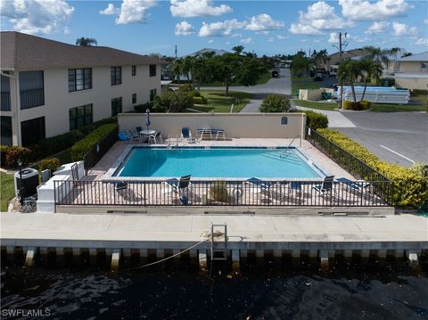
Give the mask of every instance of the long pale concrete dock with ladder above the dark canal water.
POLYGON ((417 262, 428 250, 428 219, 402 214, 378 217, 226 215, 226 214, 1 214, 2 250, 13 254, 22 250, 26 264, 37 254, 54 250, 78 255, 103 250, 111 256, 111 266, 131 252, 146 257, 155 252, 161 259, 187 252, 206 266, 210 260, 211 225, 227 226, 226 257, 235 266, 248 255, 281 258, 308 255, 322 265, 341 254, 368 258, 392 255, 417 262), (205 241, 204 241, 205 240, 205 241))

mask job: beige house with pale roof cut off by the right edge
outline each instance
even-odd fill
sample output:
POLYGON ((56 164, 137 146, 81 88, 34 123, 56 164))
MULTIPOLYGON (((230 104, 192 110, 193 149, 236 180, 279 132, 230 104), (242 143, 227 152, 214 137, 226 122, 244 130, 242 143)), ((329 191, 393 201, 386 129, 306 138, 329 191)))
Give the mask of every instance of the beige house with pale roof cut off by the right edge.
POLYGON ((428 51, 397 60, 399 71, 394 73, 395 86, 407 89, 428 89, 428 51))

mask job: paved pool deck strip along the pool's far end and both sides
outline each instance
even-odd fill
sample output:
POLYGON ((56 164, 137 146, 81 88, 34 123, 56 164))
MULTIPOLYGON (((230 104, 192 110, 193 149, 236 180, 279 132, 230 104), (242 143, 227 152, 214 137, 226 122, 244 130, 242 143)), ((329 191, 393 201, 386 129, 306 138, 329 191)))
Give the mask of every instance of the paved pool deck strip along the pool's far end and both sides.
MULTIPOLYGON (((195 144, 187 144, 179 142, 178 146, 262 146, 262 147, 286 147, 292 142, 292 139, 278 139, 278 138, 233 138, 230 140, 202 140, 198 141, 195 144)), ((110 151, 107 152, 103 159, 100 160, 94 168, 89 170, 87 176, 83 178, 86 181, 100 180, 103 178, 103 175, 111 168, 113 163, 119 159, 119 156, 125 149, 128 147, 128 141, 119 141, 114 144, 110 151)), ((132 144, 132 145, 144 145, 147 144, 132 144)), ((152 146, 165 146, 166 144, 152 144, 152 146)), ((175 144, 174 144, 175 145, 175 144)), ((303 152, 310 160, 313 160, 319 168, 321 168, 325 173, 338 177, 346 177, 348 179, 355 178, 351 176, 347 171, 337 165, 333 160, 329 159, 324 153, 320 152, 312 144, 309 144, 307 140, 295 139, 292 143, 292 146, 299 147, 300 151, 303 152)))

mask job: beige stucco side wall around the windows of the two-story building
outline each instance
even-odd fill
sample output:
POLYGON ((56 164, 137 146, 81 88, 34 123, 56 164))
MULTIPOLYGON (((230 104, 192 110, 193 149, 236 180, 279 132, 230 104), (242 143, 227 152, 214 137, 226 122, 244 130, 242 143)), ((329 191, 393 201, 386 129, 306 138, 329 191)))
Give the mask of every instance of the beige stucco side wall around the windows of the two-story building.
MULTIPOLYGON (((111 99, 122 97, 122 111, 132 111, 135 104, 146 103, 150 90, 161 94, 161 67, 156 77, 149 77, 149 66, 136 66, 136 76, 131 76, 131 66, 122 66, 122 84, 111 86, 110 67, 93 68, 92 89, 69 93, 68 69, 45 70, 45 105, 22 110, 20 121, 45 117, 46 137, 61 135, 70 129, 69 110, 93 103, 93 120, 111 116, 111 99), (136 103, 132 103, 136 94, 136 103)), ((21 130, 21 129, 20 129, 21 130)))

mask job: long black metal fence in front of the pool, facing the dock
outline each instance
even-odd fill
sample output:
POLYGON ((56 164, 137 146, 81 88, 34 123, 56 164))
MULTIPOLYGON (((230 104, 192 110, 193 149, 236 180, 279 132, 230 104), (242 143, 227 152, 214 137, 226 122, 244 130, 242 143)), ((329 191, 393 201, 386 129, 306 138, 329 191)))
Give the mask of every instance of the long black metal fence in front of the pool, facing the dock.
POLYGON ((386 207, 388 181, 54 181, 55 205, 386 207), (379 193, 374 193, 377 190, 379 193))

